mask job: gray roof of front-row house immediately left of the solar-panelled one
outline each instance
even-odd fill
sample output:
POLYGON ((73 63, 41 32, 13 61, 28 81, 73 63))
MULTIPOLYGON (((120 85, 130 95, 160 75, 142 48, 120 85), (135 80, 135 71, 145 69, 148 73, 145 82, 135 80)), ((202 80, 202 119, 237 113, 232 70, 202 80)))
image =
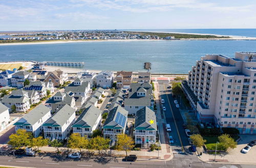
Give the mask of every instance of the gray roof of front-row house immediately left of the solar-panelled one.
MULTIPOLYGON (((98 117, 101 115, 102 111, 95 107, 94 105, 89 105, 86 109, 84 109, 76 120, 73 126, 81 125, 81 127, 93 127, 96 123, 98 117)), ((75 126, 75 127, 76 127, 75 126)))

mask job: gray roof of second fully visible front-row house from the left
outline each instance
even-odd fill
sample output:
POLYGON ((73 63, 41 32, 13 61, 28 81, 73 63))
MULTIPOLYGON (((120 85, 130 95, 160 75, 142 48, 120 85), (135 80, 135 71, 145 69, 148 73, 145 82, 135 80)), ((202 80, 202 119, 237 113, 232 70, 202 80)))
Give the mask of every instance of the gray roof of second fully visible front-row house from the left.
POLYGON ((57 113, 55 113, 45 124, 52 126, 63 126, 68 119, 75 113, 75 109, 66 104, 57 113))

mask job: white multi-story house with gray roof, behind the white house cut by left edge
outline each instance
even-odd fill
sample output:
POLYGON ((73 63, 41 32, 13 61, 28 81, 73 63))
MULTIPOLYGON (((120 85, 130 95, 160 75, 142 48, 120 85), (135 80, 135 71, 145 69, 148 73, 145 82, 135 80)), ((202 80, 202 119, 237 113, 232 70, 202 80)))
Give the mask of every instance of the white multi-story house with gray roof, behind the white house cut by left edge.
POLYGON ((11 108, 16 106, 16 111, 25 112, 30 108, 28 92, 23 90, 14 90, 10 95, 5 95, 2 99, 2 103, 11 108))

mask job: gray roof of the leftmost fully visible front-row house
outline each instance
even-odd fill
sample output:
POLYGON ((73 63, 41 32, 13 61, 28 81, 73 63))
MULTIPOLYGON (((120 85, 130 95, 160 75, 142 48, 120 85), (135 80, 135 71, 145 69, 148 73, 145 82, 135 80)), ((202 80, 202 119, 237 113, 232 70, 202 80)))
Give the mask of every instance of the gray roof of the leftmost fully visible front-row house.
MULTIPOLYGON (((40 120, 47 113, 49 113, 49 111, 51 111, 50 108, 48 108, 44 104, 39 104, 34 109, 32 109, 28 114, 23 116, 23 119, 27 121, 26 123, 30 125, 34 125, 38 120, 40 120)), ((22 119, 19 119, 17 122, 20 122, 20 120, 22 119)))

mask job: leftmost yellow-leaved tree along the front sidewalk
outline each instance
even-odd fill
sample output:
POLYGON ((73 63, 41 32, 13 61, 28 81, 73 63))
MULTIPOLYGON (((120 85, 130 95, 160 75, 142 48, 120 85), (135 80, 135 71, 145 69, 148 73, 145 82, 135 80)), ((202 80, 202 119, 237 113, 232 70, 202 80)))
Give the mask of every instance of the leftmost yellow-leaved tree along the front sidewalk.
POLYGON ((25 129, 18 129, 16 133, 9 136, 8 142, 13 148, 18 149, 31 145, 32 133, 27 132, 25 129))

